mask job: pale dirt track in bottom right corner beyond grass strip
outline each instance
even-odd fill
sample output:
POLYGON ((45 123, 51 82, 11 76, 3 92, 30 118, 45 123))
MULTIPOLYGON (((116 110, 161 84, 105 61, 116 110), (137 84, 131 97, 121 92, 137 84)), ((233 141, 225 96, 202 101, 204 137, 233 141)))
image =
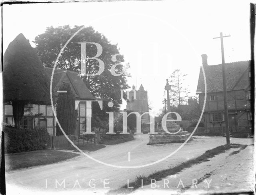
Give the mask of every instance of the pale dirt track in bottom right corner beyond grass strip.
POLYGON ((133 195, 252 194, 255 185, 252 152, 252 145, 243 150, 232 148, 210 161, 152 181, 151 185, 138 188, 133 195))

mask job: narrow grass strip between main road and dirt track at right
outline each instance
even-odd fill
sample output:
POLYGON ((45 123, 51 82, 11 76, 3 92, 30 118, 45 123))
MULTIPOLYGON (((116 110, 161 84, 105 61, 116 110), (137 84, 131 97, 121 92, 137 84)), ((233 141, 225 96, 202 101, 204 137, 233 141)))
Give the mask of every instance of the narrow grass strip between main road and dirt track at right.
POLYGON ((241 145, 241 144, 231 144, 228 145, 222 145, 218 146, 216 148, 213 148, 212 150, 207 150, 204 154, 201 156, 188 160, 186 162, 181 163, 180 165, 177 165, 170 169, 164 169, 162 171, 158 171, 156 173, 152 173, 148 177, 145 177, 144 175, 137 176, 136 181, 129 183, 129 186, 133 186, 133 188, 127 188, 127 185, 124 185, 120 187, 119 189, 111 190, 108 192, 108 194, 128 194, 132 193, 132 191, 138 189, 141 187, 141 181, 143 179, 143 185, 149 185, 151 183, 151 179, 156 179, 156 181, 161 180, 162 178, 165 178, 169 175, 175 175, 177 173, 180 173, 183 169, 186 169, 188 167, 192 167, 192 165, 199 164, 201 162, 209 161, 210 158, 213 158, 214 156, 224 153, 227 150, 230 150, 230 148, 242 148, 246 147, 247 145, 241 145))

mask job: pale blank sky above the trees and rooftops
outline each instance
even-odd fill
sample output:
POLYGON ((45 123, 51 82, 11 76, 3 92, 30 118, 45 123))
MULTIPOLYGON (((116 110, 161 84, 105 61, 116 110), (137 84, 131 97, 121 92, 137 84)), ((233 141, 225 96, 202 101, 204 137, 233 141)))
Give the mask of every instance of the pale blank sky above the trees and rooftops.
MULTIPOLYGON (((118 44, 130 63, 128 85, 148 91, 150 112, 163 108, 164 86, 172 71, 187 74, 184 86, 196 95, 202 54, 208 65, 250 60, 250 2, 253 1, 117 1, 13 4, 3 6, 3 49, 19 34, 30 40, 48 26, 92 26, 118 44)), ((172 98, 172 97, 171 97, 172 98)), ((126 103, 121 109, 126 108, 126 103)))

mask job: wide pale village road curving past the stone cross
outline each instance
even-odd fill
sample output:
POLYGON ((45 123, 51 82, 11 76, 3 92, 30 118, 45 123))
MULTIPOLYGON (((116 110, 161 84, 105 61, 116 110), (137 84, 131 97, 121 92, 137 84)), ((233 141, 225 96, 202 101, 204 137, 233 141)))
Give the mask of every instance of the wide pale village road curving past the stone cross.
MULTIPOLYGON (((135 140, 122 144, 107 146, 95 152, 88 152, 90 156, 105 163, 122 166, 137 166, 155 162, 176 150, 181 144, 146 145, 149 141, 148 134, 135 136, 135 140), (130 152, 130 161, 128 161, 130 152)), ((253 144, 253 139, 231 138, 231 143, 253 144)), ((102 165, 81 155, 65 162, 42 165, 6 173, 6 190, 8 194, 16 191, 20 194, 103 194, 110 189, 127 185, 127 180, 132 182, 136 176, 148 176, 153 172, 174 167, 189 159, 196 158, 217 146, 226 144, 225 137, 195 136, 176 154, 170 158, 147 167, 128 169, 115 168, 102 165), (91 181, 90 181, 91 180, 91 181), (58 183, 62 183, 59 187, 58 183), (90 182, 90 183, 89 183, 90 182), (79 183, 79 184, 78 184, 79 183), (105 188, 104 188, 105 183, 105 188)))

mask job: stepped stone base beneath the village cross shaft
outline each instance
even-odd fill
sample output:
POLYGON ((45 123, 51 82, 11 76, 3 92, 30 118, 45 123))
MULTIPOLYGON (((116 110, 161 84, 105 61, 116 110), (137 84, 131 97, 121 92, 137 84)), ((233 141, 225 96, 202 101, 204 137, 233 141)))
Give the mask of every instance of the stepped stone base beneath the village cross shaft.
MULTIPOLYGON (((168 134, 164 130, 161 130, 157 134, 149 134, 149 145, 185 142, 191 135, 187 131, 183 131, 183 129, 180 130, 180 126, 176 123, 169 123, 167 125, 168 132, 173 134, 168 134), (179 130, 180 132, 178 132, 179 130)), ((193 137, 190 140, 193 140, 193 137)))

